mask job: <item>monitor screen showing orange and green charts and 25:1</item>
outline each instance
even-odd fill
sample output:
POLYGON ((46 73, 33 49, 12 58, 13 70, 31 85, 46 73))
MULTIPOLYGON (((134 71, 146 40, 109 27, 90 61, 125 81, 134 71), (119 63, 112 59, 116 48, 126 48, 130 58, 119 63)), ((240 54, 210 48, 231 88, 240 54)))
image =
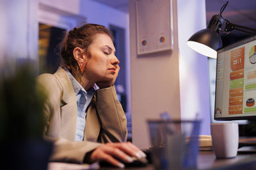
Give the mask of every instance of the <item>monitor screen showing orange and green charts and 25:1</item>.
POLYGON ((256 118, 256 36, 217 53, 215 120, 256 118))

